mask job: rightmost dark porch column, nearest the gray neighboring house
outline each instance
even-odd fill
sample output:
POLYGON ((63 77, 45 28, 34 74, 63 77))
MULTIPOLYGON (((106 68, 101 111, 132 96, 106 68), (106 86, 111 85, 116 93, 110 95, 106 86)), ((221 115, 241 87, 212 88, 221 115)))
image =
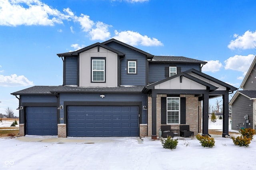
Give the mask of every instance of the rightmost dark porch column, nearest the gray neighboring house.
POLYGON ((222 130, 222 137, 226 137, 228 134, 228 92, 224 95, 222 95, 222 101, 223 101, 223 130, 222 130))

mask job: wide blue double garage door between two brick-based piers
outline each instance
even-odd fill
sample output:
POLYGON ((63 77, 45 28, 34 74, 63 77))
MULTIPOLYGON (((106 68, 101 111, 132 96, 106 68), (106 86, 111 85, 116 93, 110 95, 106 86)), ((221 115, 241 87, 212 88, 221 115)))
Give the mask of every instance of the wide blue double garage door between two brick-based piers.
POLYGON ((138 106, 68 106, 68 136, 139 136, 138 106))

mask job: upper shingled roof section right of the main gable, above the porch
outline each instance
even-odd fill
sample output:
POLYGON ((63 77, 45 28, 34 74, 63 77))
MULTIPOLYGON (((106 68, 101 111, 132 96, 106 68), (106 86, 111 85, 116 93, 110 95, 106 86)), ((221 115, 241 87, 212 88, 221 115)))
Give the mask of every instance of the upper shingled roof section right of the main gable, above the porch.
POLYGON ((182 56, 154 56, 152 61, 150 62, 172 62, 172 63, 202 63, 206 64, 206 61, 201 61, 198 59, 192 59, 192 58, 187 58, 187 57, 182 57, 182 56))

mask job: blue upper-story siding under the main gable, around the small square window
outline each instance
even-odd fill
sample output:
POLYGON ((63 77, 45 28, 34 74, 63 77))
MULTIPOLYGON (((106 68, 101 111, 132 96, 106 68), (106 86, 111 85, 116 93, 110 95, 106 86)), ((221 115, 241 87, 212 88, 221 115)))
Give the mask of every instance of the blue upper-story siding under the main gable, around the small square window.
POLYGON ((125 53, 121 60, 121 85, 146 85, 146 56, 115 42, 107 44, 125 53), (127 74, 127 60, 137 60, 137 74, 127 74))

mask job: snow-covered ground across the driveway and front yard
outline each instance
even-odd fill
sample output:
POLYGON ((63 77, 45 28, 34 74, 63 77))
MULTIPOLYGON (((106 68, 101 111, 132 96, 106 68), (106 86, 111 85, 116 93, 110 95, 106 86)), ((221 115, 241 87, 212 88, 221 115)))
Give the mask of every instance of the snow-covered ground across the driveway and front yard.
MULTIPOLYGON (((222 128, 216 122, 214 129, 222 128)), ((214 126, 209 123, 209 127, 214 126)), ((0 138, 0 169, 26 170, 252 170, 256 169, 256 139, 249 147, 212 135, 213 148, 195 138, 178 137, 174 150, 150 137, 57 138, 23 136, 0 138)), ((175 137, 177 138, 177 137, 175 137)))

